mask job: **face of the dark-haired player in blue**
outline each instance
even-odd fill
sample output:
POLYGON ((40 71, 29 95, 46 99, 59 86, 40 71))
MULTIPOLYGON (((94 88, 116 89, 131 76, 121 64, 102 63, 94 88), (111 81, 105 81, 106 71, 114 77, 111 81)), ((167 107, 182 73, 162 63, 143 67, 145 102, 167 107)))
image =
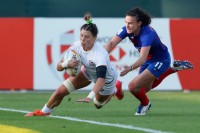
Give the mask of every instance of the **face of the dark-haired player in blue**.
POLYGON ((126 16, 125 18, 125 23, 126 23, 126 30, 127 33, 133 33, 135 35, 139 34, 140 31, 140 26, 141 26, 141 21, 137 21, 135 17, 132 16, 126 16))

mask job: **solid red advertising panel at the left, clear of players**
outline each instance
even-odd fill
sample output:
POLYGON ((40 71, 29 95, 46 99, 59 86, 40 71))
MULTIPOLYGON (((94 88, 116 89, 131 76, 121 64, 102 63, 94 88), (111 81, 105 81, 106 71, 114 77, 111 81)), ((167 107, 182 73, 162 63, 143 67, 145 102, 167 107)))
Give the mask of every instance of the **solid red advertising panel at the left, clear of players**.
POLYGON ((0 18, 0 90, 33 89, 33 18, 0 18))

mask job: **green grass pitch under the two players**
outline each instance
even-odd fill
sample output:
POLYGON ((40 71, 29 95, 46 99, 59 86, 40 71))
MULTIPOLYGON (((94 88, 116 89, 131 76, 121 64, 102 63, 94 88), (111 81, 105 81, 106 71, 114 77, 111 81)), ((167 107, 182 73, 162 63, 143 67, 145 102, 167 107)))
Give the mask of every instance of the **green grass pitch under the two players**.
POLYGON ((134 116, 139 102, 128 91, 125 92, 123 100, 113 98, 99 110, 93 103, 75 102, 85 97, 88 92, 74 92, 65 97, 61 105, 53 110, 52 117, 24 117, 25 113, 19 112, 41 109, 51 93, 0 92, 0 133, 11 132, 9 128, 3 130, 2 125, 31 129, 35 133, 199 132, 200 92, 151 91, 148 96, 152 108, 146 116, 134 116), (2 110, 2 108, 17 111, 2 110))

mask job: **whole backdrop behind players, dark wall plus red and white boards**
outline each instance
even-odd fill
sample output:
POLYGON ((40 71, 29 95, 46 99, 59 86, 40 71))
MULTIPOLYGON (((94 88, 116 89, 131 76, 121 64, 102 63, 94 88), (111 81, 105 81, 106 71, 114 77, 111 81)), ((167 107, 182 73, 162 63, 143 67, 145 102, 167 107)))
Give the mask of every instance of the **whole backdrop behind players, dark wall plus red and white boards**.
MULTIPOLYGON (((199 90, 199 0, 1 0, 0 90, 54 90, 67 78, 56 64, 71 43, 79 39, 83 15, 91 12, 99 28, 97 41, 106 44, 124 26, 126 11, 147 10, 154 18, 172 60, 191 61, 195 69, 170 75, 158 90, 199 90)), ((118 72, 138 53, 124 40, 110 54, 118 72)), ((120 80, 123 88, 138 70, 120 80)), ((87 89, 91 89, 88 87, 87 89)))

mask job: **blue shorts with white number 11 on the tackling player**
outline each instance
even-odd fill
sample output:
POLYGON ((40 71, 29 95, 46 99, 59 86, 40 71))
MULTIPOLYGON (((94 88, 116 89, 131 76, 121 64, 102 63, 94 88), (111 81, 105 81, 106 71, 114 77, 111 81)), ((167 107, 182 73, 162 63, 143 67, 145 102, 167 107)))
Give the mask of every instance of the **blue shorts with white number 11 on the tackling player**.
POLYGON ((171 59, 170 56, 166 59, 159 61, 147 60, 139 70, 139 74, 145 69, 148 69, 156 78, 159 78, 167 69, 170 67, 171 59))

